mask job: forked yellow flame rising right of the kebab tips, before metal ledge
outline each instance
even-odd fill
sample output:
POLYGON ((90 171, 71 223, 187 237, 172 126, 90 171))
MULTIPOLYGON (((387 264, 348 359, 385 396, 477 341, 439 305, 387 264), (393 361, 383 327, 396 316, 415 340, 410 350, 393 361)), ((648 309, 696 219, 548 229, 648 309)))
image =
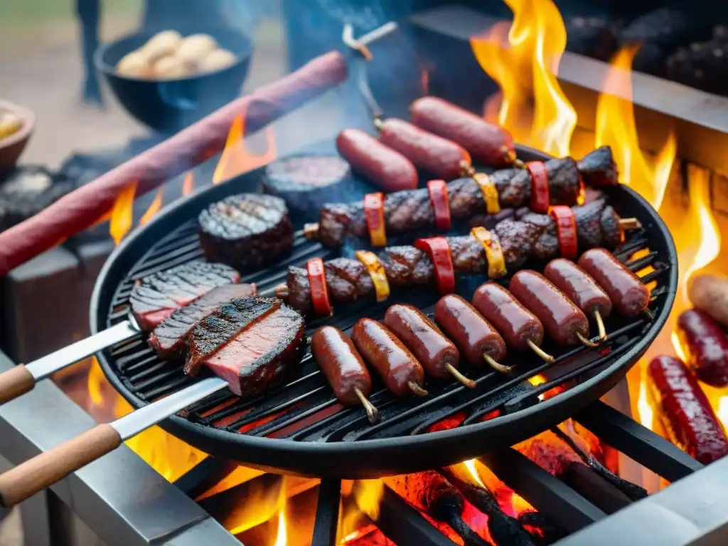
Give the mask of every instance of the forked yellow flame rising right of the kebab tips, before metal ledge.
POLYGON ((597 101, 595 143, 596 146, 612 147, 621 182, 660 210, 675 161, 677 141, 671 130, 654 159, 639 147, 631 77, 632 61, 638 50, 638 45, 628 45, 612 58, 597 101))

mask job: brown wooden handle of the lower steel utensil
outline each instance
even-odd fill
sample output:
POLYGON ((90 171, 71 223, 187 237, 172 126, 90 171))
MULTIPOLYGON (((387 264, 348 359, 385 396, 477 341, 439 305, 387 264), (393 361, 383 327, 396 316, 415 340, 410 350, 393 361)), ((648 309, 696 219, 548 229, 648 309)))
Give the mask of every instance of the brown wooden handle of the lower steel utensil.
POLYGON ((0 505, 9 508, 52 486, 122 443, 110 424, 99 424, 0 475, 0 505))

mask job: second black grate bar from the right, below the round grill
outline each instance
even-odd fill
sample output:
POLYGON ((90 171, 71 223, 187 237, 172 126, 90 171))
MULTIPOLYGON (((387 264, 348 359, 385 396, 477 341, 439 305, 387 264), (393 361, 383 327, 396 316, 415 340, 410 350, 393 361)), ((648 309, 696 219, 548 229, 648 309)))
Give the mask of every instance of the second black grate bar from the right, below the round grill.
POLYGON ((567 531, 578 531, 606 517, 583 496, 513 448, 494 451, 479 460, 536 510, 567 531))

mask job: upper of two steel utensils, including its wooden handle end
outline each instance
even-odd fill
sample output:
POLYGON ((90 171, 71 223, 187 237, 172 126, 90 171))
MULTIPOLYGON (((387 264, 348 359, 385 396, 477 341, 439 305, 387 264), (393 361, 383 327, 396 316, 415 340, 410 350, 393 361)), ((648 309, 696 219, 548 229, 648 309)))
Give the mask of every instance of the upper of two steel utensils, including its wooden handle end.
POLYGON ((31 363, 19 364, 12 370, 0 373, 0 404, 31 391, 41 379, 45 379, 63 368, 68 368, 71 364, 90 357, 106 347, 132 339, 140 332, 141 330, 130 314, 129 319, 124 320, 123 323, 81 341, 76 341, 68 347, 58 349, 31 363))

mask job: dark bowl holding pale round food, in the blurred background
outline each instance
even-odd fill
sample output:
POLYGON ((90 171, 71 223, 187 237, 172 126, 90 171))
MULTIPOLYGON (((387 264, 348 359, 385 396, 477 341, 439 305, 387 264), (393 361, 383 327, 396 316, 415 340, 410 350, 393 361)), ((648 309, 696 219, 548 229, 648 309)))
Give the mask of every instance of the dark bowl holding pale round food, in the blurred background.
POLYGON ((135 33, 104 44, 94 55, 96 68, 106 76, 124 108, 135 119, 164 133, 177 132, 240 96, 253 55, 253 42, 237 28, 197 25, 175 30, 182 36, 209 34, 237 61, 222 70, 178 79, 152 80, 116 74, 116 63, 142 47, 154 32, 135 33))

